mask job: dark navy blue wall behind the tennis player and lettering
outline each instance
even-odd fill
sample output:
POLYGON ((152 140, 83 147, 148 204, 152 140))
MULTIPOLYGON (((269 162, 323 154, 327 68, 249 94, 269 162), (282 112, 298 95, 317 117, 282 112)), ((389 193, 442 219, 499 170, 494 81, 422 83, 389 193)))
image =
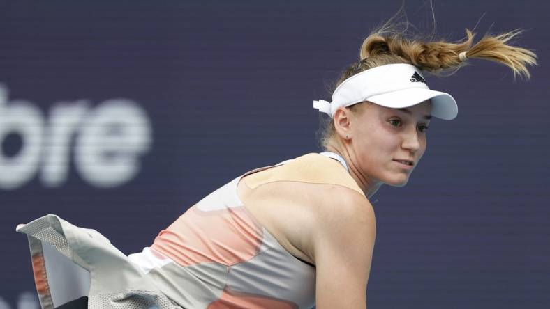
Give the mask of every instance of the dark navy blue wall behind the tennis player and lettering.
MULTIPOLYGON (((58 214, 125 253, 141 251, 237 175, 317 152, 311 102, 329 98, 327 85, 357 60, 362 38, 400 6, 0 1, 0 308, 36 304, 25 294, 34 293, 34 281, 17 223, 58 214), (112 100, 121 99, 137 113, 126 126, 108 118, 120 103, 112 100), (27 112, 17 116, 20 100, 27 112), (52 127, 68 126, 53 125, 56 111, 71 106, 77 116, 64 119, 74 132, 52 139, 52 127), (8 128, 22 118, 34 119, 23 125, 28 135, 8 128), (98 123, 107 123, 106 135, 95 142, 114 144, 100 165, 124 153, 122 165, 135 175, 105 184, 101 170, 86 167, 82 136, 93 136, 98 123), (133 126, 144 131, 117 141, 133 126), (42 142, 31 145, 28 136, 42 142), (29 163, 15 161, 32 149, 29 163)), ((429 3, 406 1, 406 9, 413 24, 429 28, 429 3)), ((476 60, 452 77, 426 77, 454 95, 459 116, 433 120, 409 184, 382 187, 371 200, 378 235, 369 308, 548 308, 550 4, 436 1, 434 10, 438 36, 450 40, 484 13, 480 35, 528 29, 519 45, 535 50, 540 66, 530 81, 476 60)))

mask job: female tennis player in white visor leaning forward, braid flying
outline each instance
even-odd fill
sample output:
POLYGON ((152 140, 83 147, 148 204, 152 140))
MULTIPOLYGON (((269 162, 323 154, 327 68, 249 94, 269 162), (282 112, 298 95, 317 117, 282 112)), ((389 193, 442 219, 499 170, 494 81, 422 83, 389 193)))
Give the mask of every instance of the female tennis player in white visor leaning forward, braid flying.
POLYGON ((124 255, 96 230, 47 215, 28 235, 43 308, 366 308, 376 237, 369 198, 404 186, 426 151, 432 118, 452 120, 453 97, 425 73, 468 58, 530 77, 535 54, 507 44, 521 31, 474 44, 423 41, 382 27, 343 72, 325 152, 248 171, 189 208, 151 246, 124 255))

